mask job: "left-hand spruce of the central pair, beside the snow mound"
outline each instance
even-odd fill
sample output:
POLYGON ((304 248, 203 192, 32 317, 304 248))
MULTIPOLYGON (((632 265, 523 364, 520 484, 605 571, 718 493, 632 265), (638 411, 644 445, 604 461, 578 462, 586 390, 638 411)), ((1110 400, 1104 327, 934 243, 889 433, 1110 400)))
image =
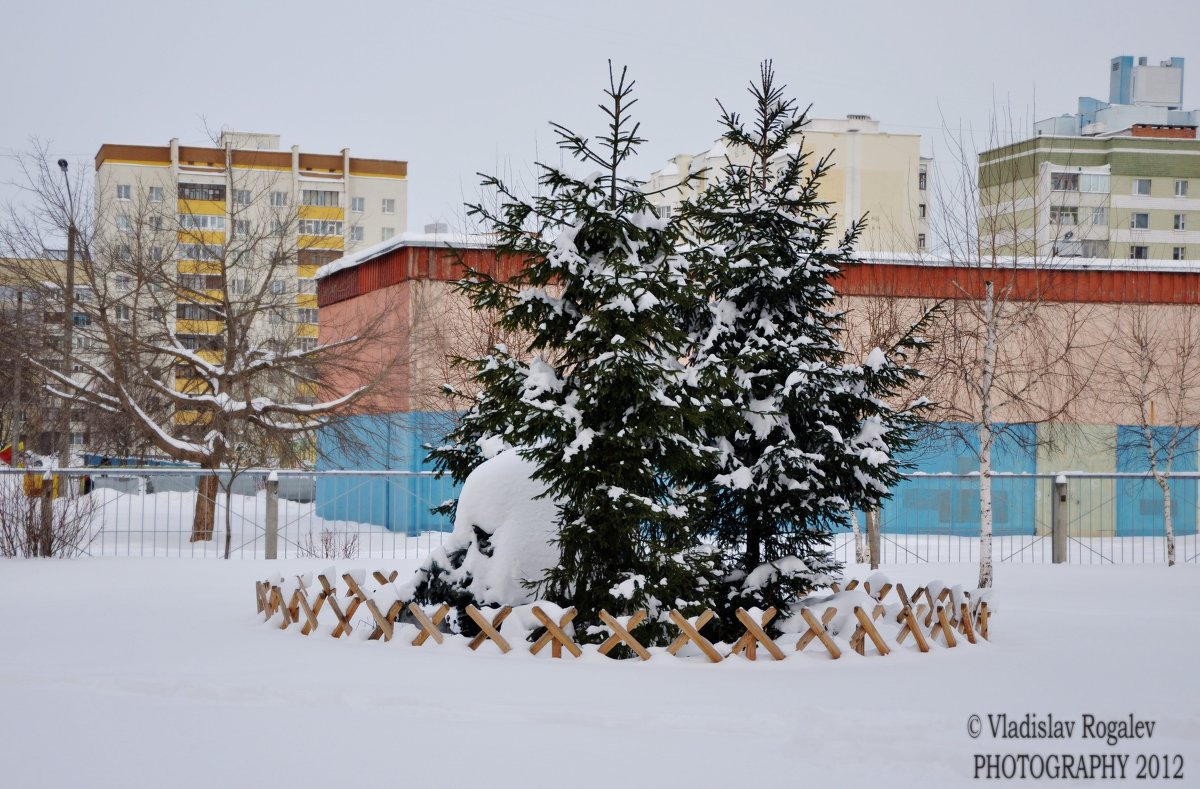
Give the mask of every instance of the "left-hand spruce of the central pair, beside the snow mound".
POLYGON ((559 562, 529 579, 538 594, 575 606, 584 626, 601 608, 648 608, 641 633, 661 643, 667 609, 708 604, 712 556, 696 530, 712 451, 704 399, 680 361, 689 333, 679 315, 702 295, 676 252, 677 227, 622 176, 642 143, 632 86, 610 67, 607 130, 594 143, 554 125, 559 146, 590 174, 542 164, 542 195, 532 200, 485 180, 500 205, 472 213, 498 253, 523 266, 509 282, 475 275, 461 287, 475 308, 497 312, 502 330, 530 338, 529 356, 497 347, 480 360, 480 398, 431 454, 458 476, 480 446, 518 447, 560 502, 559 562))

